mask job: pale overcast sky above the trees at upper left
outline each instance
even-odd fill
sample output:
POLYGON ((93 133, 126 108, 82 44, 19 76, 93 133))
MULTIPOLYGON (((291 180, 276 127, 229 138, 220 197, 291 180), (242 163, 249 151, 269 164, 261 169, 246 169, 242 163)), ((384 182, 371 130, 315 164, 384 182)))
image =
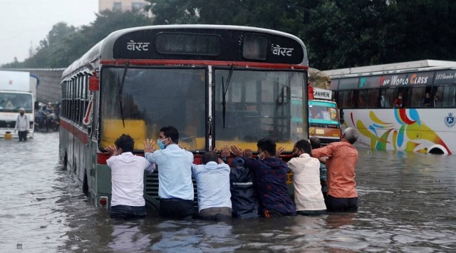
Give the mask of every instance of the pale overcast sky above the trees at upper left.
POLYGON ((98 0, 0 0, 0 65, 24 61, 58 22, 88 25, 96 12, 98 0))

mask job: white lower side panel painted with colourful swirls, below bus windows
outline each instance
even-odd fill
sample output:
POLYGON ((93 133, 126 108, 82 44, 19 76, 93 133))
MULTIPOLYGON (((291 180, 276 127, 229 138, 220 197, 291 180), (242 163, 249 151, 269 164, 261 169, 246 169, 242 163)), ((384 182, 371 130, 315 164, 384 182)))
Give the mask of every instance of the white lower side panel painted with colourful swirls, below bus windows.
POLYGON ((454 108, 344 109, 343 128, 358 128, 356 144, 376 150, 429 153, 456 151, 455 129, 445 124, 454 108))

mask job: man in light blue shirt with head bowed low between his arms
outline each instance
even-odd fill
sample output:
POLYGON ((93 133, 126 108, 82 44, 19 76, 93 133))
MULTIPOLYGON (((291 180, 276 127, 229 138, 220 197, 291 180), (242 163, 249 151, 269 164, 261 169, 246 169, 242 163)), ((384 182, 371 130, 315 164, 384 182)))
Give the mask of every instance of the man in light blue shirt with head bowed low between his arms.
POLYGON ((202 155, 203 165, 192 166, 197 180, 198 216, 204 220, 229 220, 232 216, 229 165, 215 152, 202 155))

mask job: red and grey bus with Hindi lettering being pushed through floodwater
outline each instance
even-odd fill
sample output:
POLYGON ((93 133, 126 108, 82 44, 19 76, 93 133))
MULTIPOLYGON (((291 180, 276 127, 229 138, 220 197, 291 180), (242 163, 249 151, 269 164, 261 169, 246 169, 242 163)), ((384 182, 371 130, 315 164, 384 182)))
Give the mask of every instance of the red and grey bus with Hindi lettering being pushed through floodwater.
MULTIPOLYGON (((195 164, 215 147, 257 150, 261 138, 290 155, 297 140, 308 138, 301 105, 307 65, 304 43, 281 31, 218 25, 115 31, 63 71, 59 158, 84 194, 109 208, 104 148, 123 133, 141 155, 143 140, 157 140, 162 126, 173 125, 195 164)), ((157 173, 147 175, 147 205, 159 205, 157 192, 157 173)))

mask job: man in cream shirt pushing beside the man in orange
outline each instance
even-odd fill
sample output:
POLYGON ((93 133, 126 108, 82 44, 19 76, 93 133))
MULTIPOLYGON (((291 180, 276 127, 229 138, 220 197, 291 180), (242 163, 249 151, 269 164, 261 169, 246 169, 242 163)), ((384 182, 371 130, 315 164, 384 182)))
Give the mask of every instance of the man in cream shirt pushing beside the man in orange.
POLYGON ((325 200, 321 192, 320 161, 311 157, 311 144, 299 140, 294 144, 294 158, 288 162, 293 172, 294 202, 299 215, 323 215, 325 200))

